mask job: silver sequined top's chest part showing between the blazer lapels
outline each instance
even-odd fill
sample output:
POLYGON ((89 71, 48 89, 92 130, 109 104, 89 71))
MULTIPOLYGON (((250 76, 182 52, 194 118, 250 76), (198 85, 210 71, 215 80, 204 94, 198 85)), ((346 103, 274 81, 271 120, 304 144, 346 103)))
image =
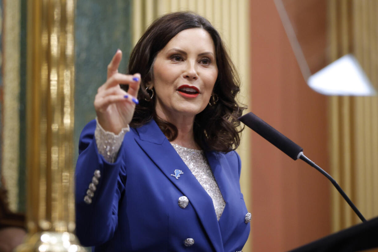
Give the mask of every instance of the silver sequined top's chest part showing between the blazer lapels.
POLYGON ((174 143, 171 144, 177 151, 178 155, 180 155, 181 159, 184 161, 189 170, 191 170, 194 177, 198 180, 198 182, 200 182, 203 189, 205 189, 205 191, 211 197, 214 204, 215 213, 219 221, 219 218, 223 213, 223 209, 225 209, 226 202, 223 199, 222 194, 220 193, 218 184, 215 181, 214 175, 212 174, 204 151, 185 148, 174 143))

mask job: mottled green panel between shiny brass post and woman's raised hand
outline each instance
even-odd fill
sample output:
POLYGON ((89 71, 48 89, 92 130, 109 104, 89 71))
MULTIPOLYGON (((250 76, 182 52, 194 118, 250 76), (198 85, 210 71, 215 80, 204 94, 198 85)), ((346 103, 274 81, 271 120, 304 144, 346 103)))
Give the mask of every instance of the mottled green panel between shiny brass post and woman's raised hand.
POLYGON ((107 65, 119 48, 119 72, 125 73, 131 51, 131 0, 76 2, 75 16, 75 161, 80 132, 96 113, 93 101, 106 81, 107 65))

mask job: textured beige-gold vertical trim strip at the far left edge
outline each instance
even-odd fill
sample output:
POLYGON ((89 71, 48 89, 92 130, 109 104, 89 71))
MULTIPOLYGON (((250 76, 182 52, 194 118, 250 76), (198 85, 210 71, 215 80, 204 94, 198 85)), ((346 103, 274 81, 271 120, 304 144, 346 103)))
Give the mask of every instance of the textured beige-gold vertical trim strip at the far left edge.
POLYGON ((9 210, 19 205, 20 136, 20 0, 4 2, 3 143, 1 171, 8 190, 9 210))

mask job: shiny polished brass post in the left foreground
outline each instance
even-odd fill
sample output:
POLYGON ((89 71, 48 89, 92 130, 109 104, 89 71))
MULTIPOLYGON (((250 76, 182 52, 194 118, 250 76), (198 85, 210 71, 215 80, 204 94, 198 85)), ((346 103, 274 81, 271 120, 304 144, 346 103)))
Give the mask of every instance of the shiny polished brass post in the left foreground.
POLYGON ((16 251, 81 251, 74 230, 74 0, 28 0, 28 239, 16 251))

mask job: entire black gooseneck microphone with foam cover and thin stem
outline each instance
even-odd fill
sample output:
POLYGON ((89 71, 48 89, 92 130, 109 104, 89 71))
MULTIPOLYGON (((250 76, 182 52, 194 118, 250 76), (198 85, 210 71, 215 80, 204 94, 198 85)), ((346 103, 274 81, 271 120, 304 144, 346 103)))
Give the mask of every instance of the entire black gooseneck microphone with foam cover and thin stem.
POLYGON ((239 117, 238 120, 244 123, 249 128, 253 129, 257 134, 268 140, 271 144, 279 148, 292 159, 302 159, 304 162, 308 163, 316 170, 318 170, 321 174, 323 174, 325 177, 327 177, 327 179, 329 179, 332 182, 332 184, 336 187, 336 189, 339 191, 339 193, 345 199, 345 201, 347 201, 347 203, 350 205, 350 207, 353 209, 356 215, 358 215, 361 221, 366 221, 364 216, 359 212, 359 210, 356 208, 353 202, 348 198, 347 194, 345 194, 339 186, 339 184, 337 184, 336 180, 333 179, 333 177, 331 177, 330 174, 328 174, 326 171, 324 171, 322 168, 320 168, 318 165, 316 165, 314 162, 308 159, 308 157, 306 157, 303 154, 303 148, 301 146, 297 145, 289 138, 285 137, 285 135, 274 129, 272 126, 270 126, 268 123, 257 117, 257 115, 253 114, 252 112, 249 112, 248 114, 239 117))

